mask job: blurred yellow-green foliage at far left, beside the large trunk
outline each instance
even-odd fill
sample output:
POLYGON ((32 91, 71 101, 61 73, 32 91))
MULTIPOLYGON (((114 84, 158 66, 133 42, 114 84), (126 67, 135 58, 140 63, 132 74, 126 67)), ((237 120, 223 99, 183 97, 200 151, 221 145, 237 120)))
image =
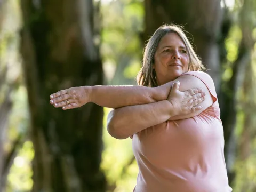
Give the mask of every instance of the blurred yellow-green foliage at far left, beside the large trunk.
MULTIPOLYGON (((1 87, 0 104, 3 98, 6 97, 7 91, 11 91, 10 99, 12 101, 12 109, 8 117, 9 129, 7 130, 7 134, 1 132, 6 141, 3 146, 4 151, 5 154, 8 154, 13 148, 13 142, 20 135, 27 134, 29 114, 27 108, 27 91, 21 85, 20 81, 22 78, 19 57, 19 29, 21 25, 19 1, 10 0, 4 4, 5 14, 3 17, 3 26, 1 26, 0 31, 0 74, 5 70, 6 74, 4 76, 4 85, 1 87)), ((7 111, 5 112, 7 113, 7 111)), ((14 158, 13 165, 7 177, 6 191, 30 191, 32 187, 30 162, 34 156, 31 145, 31 142, 25 142, 17 157, 14 158)))

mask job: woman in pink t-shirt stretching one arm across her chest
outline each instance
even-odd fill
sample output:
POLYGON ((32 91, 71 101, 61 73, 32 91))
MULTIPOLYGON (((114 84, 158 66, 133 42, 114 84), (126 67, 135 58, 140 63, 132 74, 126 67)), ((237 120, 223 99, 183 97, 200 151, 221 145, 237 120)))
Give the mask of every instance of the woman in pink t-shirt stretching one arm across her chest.
POLYGON ((114 108, 107 129, 133 139, 134 191, 228 192, 217 94, 203 68, 181 28, 164 25, 146 45, 141 86, 72 87, 52 94, 50 103, 65 110, 87 102, 114 108))

